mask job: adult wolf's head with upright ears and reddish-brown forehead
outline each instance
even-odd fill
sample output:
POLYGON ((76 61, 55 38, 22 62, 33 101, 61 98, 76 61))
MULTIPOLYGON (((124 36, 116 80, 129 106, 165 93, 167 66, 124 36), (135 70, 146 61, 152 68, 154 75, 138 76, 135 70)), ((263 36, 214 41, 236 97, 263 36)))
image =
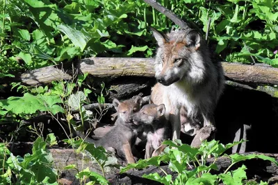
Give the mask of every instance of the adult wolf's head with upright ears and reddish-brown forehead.
MULTIPOLYGON (((196 30, 177 29, 167 35, 152 29, 157 41, 156 80, 171 85, 183 77, 202 78, 201 36, 196 30)), ((196 79, 195 79, 196 80, 196 79)))

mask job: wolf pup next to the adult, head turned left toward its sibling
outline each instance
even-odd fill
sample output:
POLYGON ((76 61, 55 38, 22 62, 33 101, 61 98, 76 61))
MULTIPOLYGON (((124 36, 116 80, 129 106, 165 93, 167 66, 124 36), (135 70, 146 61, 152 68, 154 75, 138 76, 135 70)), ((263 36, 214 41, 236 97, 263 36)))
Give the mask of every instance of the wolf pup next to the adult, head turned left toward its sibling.
POLYGON ((163 152, 165 145, 163 141, 171 138, 171 125, 165 119, 165 105, 144 105, 136 114, 133 114, 133 123, 144 125, 147 134, 145 159, 157 156, 163 152))

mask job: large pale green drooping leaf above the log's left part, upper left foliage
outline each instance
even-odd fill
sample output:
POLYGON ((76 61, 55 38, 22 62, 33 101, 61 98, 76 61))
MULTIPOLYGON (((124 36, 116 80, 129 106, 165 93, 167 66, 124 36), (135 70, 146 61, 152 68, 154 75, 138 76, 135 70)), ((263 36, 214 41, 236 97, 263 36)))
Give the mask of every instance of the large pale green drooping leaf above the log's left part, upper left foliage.
POLYGON ((60 24, 58 26, 58 30, 65 33, 65 35, 67 35, 67 37, 72 41, 72 44, 74 44, 76 47, 79 47, 81 51, 85 49, 90 39, 92 39, 88 33, 82 33, 81 31, 75 30, 74 28, 64 24, 60 24))

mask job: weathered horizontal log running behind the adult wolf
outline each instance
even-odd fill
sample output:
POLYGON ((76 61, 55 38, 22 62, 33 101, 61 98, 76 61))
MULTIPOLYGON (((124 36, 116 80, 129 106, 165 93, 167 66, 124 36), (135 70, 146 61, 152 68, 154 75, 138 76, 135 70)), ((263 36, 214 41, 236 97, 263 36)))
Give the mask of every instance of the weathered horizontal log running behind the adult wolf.
MULTIPOLYGON (((247 65, 222 62, 225 76, 238 82, 278 85, 278 69, 266 64, 247 65)), ((154 77, 153 58, 86 58, 74 64, 79 73, 94 77, 117 78, 120 76, 154 77)), ((72 78, 72 65, 43 67, 17 76, 26 85, 47 84, 54 80, 72 78)))

